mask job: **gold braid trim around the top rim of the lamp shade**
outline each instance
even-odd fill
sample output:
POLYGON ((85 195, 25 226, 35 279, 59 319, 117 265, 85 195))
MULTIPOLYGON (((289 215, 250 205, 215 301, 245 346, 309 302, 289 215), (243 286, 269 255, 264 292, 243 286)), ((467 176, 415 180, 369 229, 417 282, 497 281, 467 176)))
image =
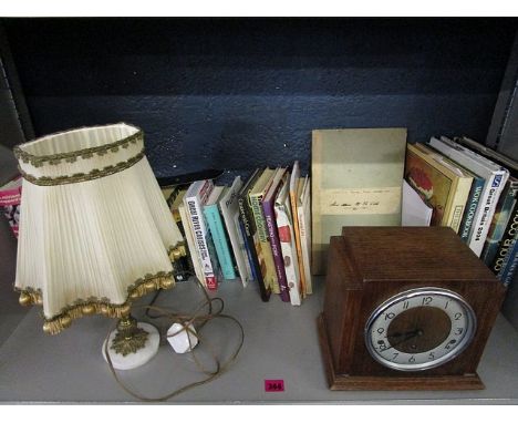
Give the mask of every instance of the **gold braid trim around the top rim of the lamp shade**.
MULTIPOLYGON (((52 135, 48 135, 46 137, 60 135, 60 134, 66 134, 69 131, 65 132, 59 132, 52 135)), ((83 159, 91 158, 95 155, 97 156, 104 156, 105 154, 108 153, 116 153, 118 152, 118 148, 127 148, 130 146, 130 143, 135 144, 138 141, 144 141, 144 133, 139 130, 137 133, 130 135, 125 138, 115 141, 110 144, 104 144, 100 145, 96 147, 90 147, 90 148, 83 148, 83 149, 76 149, 70 153, 60 153, 60 154, 49 154, 45 156, 37 156, 30 153, 27 153, 22 148, 20 148, 18 145, 12 149, 14 153, 14 156, 19 159, 22 161, 23 163, 30 163, 34 167, 41 167, 45 164, 45 162, 49 162, 50 165, 59 165, 62 161, 65 161, 66 163, 74 163, 77 161, 79 157, 83 159)))

